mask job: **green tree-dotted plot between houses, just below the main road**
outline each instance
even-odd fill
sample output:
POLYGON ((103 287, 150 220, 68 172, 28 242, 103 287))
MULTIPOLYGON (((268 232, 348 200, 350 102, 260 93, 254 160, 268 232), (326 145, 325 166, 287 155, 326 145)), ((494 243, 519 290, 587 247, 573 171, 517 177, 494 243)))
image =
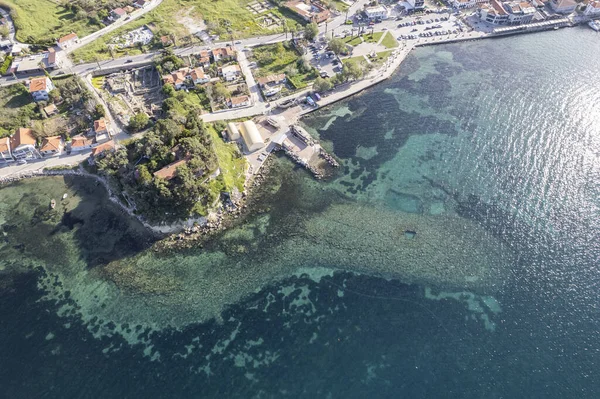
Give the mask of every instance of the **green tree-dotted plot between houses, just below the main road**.
POLYGON ((295 89, 306 87, 318 76, 315 69, 301 56, 291 42, 280 42, 255 47, 252 57, 259 68, 257 77, 285 73, 295 89))

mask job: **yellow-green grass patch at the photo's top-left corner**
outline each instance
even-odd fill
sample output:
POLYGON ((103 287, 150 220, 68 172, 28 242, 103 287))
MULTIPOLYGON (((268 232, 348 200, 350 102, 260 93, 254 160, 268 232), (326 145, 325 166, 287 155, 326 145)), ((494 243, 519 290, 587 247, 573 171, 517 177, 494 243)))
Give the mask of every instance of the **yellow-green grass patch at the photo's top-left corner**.
POLYGON ((81 37, 101 28, 88 19, 74 20, 75 15, 58 1, 0 0, 0 6, 13 11, 17 40, 26 43, 53 42, 72 31, 81 37))

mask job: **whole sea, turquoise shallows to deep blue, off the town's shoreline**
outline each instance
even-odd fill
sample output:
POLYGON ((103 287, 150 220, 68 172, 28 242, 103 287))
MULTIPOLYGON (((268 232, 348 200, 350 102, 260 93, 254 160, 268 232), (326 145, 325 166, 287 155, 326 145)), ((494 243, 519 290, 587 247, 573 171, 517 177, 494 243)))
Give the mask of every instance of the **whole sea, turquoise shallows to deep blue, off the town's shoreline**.
POLYGON ((265 212, 202 250, 80 256, 75 223, 36 239, 68 256, 36 258, 13 237, 43 212, 0 191, 3 266, 45 266, 0 280, 4 392, 598 397, 598 39, 419 49, 305 121, 335 179, 282 161, 265 212))

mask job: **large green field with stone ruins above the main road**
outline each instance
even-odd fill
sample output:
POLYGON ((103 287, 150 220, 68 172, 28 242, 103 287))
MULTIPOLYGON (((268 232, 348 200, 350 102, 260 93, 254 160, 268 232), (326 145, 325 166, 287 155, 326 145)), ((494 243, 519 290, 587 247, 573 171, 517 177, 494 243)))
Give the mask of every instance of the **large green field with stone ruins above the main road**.
MULTIPOLYGON (((109 59, 111 58, 111 54, 108 51, 107 44, 111 43, 116 36, 139 28, 142 25, 154 26, 161 34, 174 35, 176 46, 200 44, 200 39, 192 36, 185 26, 187 20, 193 21, 195 24, 199 24, 202 20, 206 21, 208 30, 211 33, 220 35, 223 39, 230 38, 228 29, 233 31, 236 39, 283 31, 282 28, 271 30, 261 27, 257 21, 259 15, 252 14, 246 9, 246 6, 251 2, 252 0, 164 0, 157 8, 143 17, 117 29, 108 36, 80 48, 71 57, 76 62, 109 59)), ((297 29, 301 30, 300 23, 283 7, 272 8, 263 14, 266 13, 272 13, 285 18, 288 26, 296 25, 297 29)), ((136 55, 147 50, 149 50, 148 47, 142 50, 139 48, 124 49, 115 51, 114 56, 136 55)))

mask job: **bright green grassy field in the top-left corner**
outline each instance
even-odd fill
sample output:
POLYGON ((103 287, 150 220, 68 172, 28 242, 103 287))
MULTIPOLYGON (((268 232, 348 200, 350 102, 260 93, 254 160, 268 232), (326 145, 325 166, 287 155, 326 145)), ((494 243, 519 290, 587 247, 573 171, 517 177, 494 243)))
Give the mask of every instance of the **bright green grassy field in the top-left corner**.
POLYGON ((102 19, 111 9, 127 4, 125 0, 0 0, 0 6, 11 10, 17 40, 40 45, 53 44, 71 32, 80 37, 92 33, 104 26, 102 19))

